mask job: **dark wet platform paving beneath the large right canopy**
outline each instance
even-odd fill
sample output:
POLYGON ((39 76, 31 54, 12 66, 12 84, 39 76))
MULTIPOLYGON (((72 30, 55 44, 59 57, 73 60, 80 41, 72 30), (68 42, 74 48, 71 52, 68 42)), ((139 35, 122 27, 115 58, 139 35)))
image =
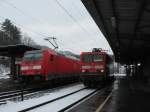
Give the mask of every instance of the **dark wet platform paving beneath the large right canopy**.
POLYGON ((118 80, 100 112, 150 112, 150 87, 132 78, 118 80))

